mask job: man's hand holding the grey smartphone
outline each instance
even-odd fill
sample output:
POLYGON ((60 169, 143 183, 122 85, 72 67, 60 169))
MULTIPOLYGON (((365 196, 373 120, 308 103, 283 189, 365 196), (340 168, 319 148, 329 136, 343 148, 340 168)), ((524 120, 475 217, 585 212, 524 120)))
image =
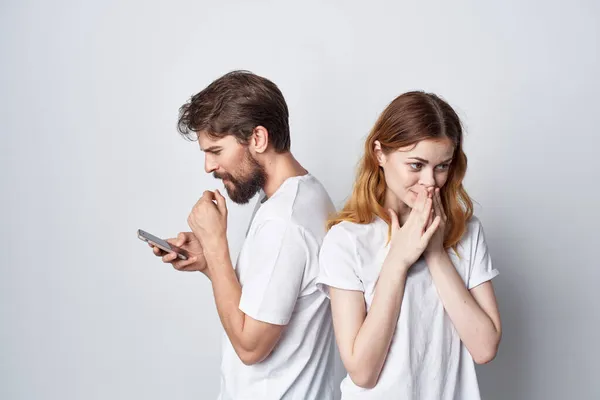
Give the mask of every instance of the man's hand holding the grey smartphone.
POLYGON ((171 264, 178 271, 201 271, 206 273, 206 259, 200 241, 192 232, 181 232, 177 238, 167 239, 167 243, 187 252, 187 260, 181 260, 176 253, 168 253, 150 244, 154 255, 161 257, 164 263, 171 264))

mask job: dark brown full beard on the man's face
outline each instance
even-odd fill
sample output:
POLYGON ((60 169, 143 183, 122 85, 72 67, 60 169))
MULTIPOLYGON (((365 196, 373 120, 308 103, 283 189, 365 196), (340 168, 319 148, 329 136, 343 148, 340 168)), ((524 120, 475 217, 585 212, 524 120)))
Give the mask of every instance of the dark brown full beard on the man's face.
POLYGON ((241 175, 240 178, 235 178, 227 172, 223 174, 213 172, 215 178, 229 181, 229 186, 225 183, 224 185, 231 201, 237 204, 246 204, 263 188, 267 181, 267 174, 250 152, 246 151, 246 157, 239 175, 241 175), (249 173, 245 171, 249 171, 249 173))

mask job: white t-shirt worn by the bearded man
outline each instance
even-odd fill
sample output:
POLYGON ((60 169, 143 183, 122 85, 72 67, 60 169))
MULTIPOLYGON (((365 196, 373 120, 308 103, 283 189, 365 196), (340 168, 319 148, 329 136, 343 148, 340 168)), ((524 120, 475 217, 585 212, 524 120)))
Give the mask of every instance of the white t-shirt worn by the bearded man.
POLYGON ((334 212, 310 174, 287 179, 259 200, 235 266, 239 307, 256 320, 286 327, 271 354, 250 366, 224 335, 220 400, 333 398, 331 310, 315 280, 325 224, 334 212))

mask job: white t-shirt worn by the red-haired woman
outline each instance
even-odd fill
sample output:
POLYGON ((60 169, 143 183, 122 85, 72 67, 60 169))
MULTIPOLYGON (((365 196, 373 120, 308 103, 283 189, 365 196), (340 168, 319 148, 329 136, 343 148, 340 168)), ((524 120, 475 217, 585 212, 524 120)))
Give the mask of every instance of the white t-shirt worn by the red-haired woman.
MULTIPOLYGON (((329 287, 364 293, 367 312, 375 283, 389 251, 388 225, 341 222, 327 233, 320 254, 319 289, 329 287)), ((475 217, 448 254, 468 289, 498 275, 475 217)), ((361 388, 350 376, 342 381, 342 399, 479 400, 475 364, 461 342, 435 288, 423 257, 409 270, 400 316, 389 353, 372 389, 361 388)))

